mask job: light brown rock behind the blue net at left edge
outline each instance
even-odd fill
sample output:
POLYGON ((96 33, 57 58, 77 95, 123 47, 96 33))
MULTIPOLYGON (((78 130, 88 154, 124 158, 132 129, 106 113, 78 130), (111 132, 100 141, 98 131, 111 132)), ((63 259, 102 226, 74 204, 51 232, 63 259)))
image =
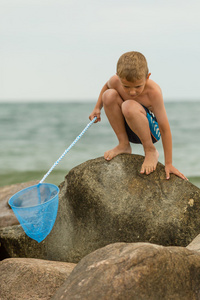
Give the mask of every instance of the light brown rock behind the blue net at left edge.
POLYGON ((0 187, 0 228, 19 224, 15 214, 8 205, 8 200, 20 190, 37 183, 38 181, 35 180, 0 187))

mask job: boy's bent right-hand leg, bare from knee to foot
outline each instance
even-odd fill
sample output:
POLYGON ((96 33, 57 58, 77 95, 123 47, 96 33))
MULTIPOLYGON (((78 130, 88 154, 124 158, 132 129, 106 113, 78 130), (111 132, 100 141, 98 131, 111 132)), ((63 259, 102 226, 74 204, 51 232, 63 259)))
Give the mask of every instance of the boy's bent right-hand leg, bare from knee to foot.
POLYGON ((150 174, 156 169, 159 153, 152 142, 146 111, 138 102, 127 100, 122 104, 122 113, 131 130, 140 138, 144 148, 145 159, 141 173, 150 174))

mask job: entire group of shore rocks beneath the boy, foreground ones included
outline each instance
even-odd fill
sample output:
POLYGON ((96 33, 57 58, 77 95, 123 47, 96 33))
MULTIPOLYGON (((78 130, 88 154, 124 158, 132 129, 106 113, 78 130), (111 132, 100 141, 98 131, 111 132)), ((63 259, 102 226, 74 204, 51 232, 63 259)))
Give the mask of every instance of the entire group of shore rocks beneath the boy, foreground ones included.
POLYGON ((41 243, 25 235, 0 188, 0 299, 200 299, 200 189, 143 157, 100 157, 60 184, 58 215, 41 243), (15 295, 15 296, 14 296, 15 295))

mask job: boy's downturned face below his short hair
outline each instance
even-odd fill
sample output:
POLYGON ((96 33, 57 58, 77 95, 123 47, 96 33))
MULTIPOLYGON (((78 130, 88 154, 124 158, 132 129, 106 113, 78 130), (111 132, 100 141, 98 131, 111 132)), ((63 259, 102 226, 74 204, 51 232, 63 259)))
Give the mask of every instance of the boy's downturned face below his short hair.
POLYGON ((142 94, 142 92, 144 91, 147 79, 148 79, 148 77, 139 79, 139 80, 135 80, 134 82, 130 82, 124 78, 119 77, 119 80, 122 84, 124 91, 132 98, 136 98, 140 94, 142 94))

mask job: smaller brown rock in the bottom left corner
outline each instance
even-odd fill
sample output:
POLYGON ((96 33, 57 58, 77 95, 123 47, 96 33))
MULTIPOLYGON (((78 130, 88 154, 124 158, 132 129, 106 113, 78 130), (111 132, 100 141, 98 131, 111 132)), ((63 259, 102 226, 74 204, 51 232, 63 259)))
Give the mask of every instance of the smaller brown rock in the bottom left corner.
POLYGON ((0 262, 0 298, 4 300, 50 299, 75 264, 31 258, 0 262))

